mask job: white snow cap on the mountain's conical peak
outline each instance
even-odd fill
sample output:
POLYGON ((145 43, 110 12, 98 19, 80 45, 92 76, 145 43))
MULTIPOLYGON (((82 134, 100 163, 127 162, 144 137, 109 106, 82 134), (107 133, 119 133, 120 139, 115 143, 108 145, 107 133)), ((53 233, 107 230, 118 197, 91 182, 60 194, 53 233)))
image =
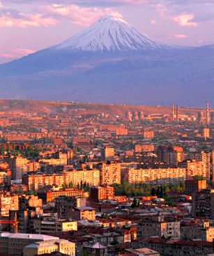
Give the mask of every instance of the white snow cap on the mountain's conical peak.
POLYGON ((88 29, 54 47, 54 50, 128 52, 165 48, 170 46, 150 40, 121 17, 104 16, 88 29))

